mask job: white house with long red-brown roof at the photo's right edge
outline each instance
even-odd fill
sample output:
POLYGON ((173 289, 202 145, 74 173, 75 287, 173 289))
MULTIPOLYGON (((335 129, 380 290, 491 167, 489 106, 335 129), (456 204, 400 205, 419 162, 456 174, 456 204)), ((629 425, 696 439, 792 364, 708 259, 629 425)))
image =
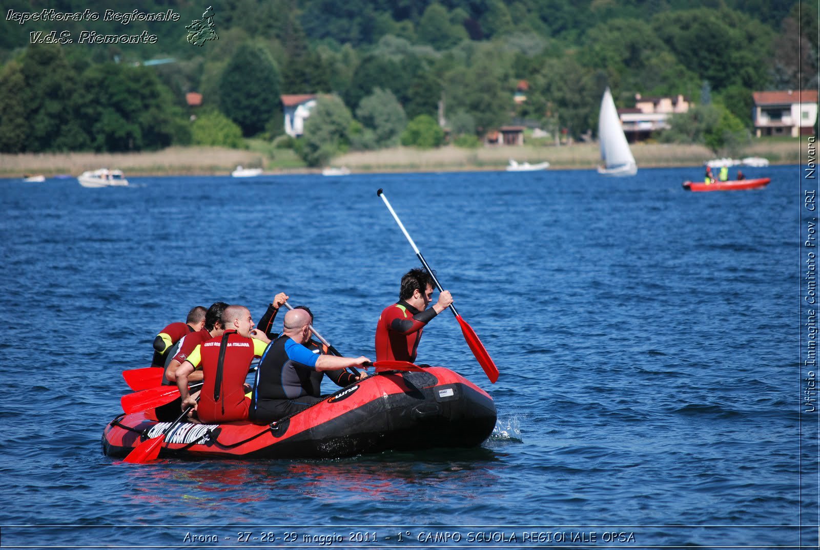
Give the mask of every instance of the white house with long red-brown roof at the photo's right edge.
POLYGON ((754 133, 763 135, 810 135, 818 118, 817 90, 754 92, 754 133))

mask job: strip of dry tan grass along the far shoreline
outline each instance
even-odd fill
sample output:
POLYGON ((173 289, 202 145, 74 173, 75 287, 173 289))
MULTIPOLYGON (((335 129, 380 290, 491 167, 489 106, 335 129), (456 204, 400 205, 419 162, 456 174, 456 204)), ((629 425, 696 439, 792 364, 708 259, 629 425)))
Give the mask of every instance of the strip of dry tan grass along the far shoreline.
MULTIPOLYGON (((799 139, 754 140, 740 157, 766 157, 772 164, 798 164, 799 139)), ((703 166, 714 155, 699 145, 638 143, 632 146, 639 167, 703 166)), ((549 161, 551 169, 593 170, 599 164, 597 143, 562 147, 453 146, 432 150, 391 148, 348 152, 333 159, 333 166, 347 166, 354 173, 503 170, 509 159, 531 163, 549 161)), ((227 175, 237 165, 262 167, 269 174, 307 174, 320 170, 303 166, 293 151, 259 147, 248 150, 205 147, 173 147, 162 151, 133 153, 21 153, 0 154, 0 177, 24 174, 80 175, 84 170, 118 168, 132 175, 227 175)))

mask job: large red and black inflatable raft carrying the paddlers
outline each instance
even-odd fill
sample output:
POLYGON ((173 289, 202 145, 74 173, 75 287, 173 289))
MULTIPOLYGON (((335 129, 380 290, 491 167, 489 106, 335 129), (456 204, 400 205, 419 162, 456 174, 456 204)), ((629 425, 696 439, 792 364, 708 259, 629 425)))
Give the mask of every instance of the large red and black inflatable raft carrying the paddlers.
MULTIPOLYGON (((493 432, 495 418, 493 398, 452 370, 389 371, 271 425, 182 423, 166 435, 160 457, 337 458, 475 447, 493 432)), ((153 410, 117 416, 103 431, 103 452, 125 457, 170 425, 153 410)))

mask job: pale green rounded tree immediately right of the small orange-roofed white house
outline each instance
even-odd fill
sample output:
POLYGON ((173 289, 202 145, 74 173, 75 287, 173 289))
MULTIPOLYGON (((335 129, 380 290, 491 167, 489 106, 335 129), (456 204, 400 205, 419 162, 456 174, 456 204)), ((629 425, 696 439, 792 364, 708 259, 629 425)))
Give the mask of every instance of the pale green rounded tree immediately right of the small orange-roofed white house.
POLYGON ((321 96, 305 120, 300 154, 309 166, 321 166, 350 144, 353 116, 338 96, 321 96))

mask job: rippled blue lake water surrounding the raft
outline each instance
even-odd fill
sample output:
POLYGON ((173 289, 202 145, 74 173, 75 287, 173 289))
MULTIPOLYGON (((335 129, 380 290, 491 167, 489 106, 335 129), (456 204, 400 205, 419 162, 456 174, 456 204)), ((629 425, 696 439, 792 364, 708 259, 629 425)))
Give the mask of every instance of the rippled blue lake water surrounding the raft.
POLYGON ((681 189, 700 175, 0 180, 2 546, 816 548, 800 528, 818 525, 801 170, 681 189), (336 461, 103 456, 121 371, 194 305, 257 320, 285 291, 339 351, 372 356, 419 263, 379 188, 499 366, 490 384, 452 315, 425 330, 419 362, 493 396, 490 440, 336 461))

